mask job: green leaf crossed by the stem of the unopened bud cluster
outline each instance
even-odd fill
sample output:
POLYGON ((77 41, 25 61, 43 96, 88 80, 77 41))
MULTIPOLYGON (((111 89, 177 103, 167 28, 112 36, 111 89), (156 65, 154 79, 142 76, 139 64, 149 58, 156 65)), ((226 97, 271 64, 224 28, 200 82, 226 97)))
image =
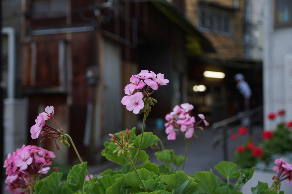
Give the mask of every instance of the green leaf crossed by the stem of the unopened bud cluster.
MULTIPOLYGON (((144 168, 138 169, 137 171, 142 181, 146 181, 148 176, 152 177, 153 175, 155 175, 154 172, 150 172, 149 170, 144 168)), ((138 191, 141 192, 144 191, 143 189, 140 188, 140 181, 135 172, 129 172, 128 174, 126 174, 124 182, 138 191)))

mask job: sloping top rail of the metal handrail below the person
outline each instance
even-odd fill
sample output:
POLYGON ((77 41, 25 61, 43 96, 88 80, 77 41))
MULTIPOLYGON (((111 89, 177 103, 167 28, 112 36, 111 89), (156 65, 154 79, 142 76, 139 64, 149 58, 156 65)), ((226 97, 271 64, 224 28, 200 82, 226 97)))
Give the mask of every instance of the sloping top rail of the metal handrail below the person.
POLYGON ((252 116, 253 114, 257 113, 257 112, 260 112, 263 110, 263 106, 258 106, 256 108, 253 108, 251 110, 247 110, 245 112, 242 112, 240 114, 237 114, 233 117, 230 117, 228 119, 224 119, 222 121, 219 121, 217 123, 214 123, 212 125, 212 130, 216 130, 217 128, 219 127, 226 127, 228 124, 232 123, 232 122, 235 122, 235 121, 238 121, 244 117, 250 117, 252 116))

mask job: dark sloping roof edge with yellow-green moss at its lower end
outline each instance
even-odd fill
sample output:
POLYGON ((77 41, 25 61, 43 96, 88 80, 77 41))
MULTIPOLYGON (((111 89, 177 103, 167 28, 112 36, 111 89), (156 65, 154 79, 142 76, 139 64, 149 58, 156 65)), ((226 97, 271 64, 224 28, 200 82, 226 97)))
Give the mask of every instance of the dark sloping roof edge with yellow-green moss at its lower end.
POLYGON ((199 55, 205 52, 215 52, 211 42, 203 36, 181 13, 176 10, 173 5, 166 0, 150 1, 168 19, 178 25, 187 33, 187 54, 199 55))

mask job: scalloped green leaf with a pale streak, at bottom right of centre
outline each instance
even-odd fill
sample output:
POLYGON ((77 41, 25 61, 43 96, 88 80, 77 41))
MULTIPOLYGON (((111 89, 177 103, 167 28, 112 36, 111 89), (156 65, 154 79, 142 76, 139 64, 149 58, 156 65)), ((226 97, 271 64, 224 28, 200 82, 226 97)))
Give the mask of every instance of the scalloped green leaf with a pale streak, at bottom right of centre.
POLYGON ((175 193, 185 194, 197 185, 194 180, 183 171, 177 171, 175 174, 164 175, 161 178, 162 185, 175 193))

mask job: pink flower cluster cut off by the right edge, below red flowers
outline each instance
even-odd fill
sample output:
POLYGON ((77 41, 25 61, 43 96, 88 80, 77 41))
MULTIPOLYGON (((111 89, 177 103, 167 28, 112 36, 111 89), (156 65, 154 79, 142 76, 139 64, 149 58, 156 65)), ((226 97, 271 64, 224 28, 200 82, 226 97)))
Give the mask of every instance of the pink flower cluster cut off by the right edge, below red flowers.
POLYGON ((277 172, 277 176, 274 176, 273 179, 281 182, 285 180, 287 184, 292 186, 292 165, 285 162, 283 158, 275 160, 277 166, 273 167, 273 170, 277 172))

